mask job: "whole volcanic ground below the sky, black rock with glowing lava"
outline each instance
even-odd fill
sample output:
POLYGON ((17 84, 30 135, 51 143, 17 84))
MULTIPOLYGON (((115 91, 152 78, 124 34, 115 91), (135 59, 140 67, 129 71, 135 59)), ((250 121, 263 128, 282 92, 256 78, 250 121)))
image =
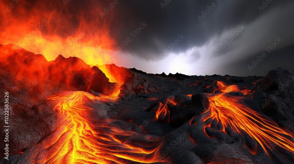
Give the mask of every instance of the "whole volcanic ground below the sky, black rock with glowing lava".
POLYGON ((10 156, 1 149, 1 163, 294 161, 289 70, 154 75, 61 55, 48 62, 15 45, 0 52, 0 92, 11 97, 10 156))

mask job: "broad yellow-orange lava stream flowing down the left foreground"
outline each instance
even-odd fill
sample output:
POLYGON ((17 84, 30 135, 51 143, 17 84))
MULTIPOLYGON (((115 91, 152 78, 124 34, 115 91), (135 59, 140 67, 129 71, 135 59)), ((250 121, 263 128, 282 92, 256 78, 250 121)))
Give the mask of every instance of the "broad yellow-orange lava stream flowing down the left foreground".
POLYGON ((111 100, 78 91, 53 95, 49 101, 59 116, 39 163, 157 162, 161 140, 125 130, 118 120, 109 119, 100 102, 111 100))

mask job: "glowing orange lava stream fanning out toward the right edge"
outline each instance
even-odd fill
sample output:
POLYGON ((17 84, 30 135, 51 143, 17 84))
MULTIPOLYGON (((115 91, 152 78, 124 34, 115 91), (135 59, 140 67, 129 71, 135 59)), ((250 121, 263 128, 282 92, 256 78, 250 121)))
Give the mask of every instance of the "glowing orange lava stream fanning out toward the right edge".
MULTIPOLYGON (((225 94, 239 91, 238 86, 226 86, 223 82, 218 82, 218 86, 222 93, 208 97, 210 106, 206 112, 208 116, 203 119, 203 122, 208 119, 216 120, 218 130, 225 133, 226 127, 231 127, 233 131, 240 134, 245 132, 255 139, 266 153, 268 148, 275 146, 294 153, 294 138, 291 134, 281 129, 273 120, 242 104, 240 100, 242 97, 225 94)), ((245 90, 244 93, 248 91, 245 90)), ((210 126, 211 124, 206 125, 206 127, 210 126)), ((253 154, 256 153, 256 150, 250 151, 253 154)))

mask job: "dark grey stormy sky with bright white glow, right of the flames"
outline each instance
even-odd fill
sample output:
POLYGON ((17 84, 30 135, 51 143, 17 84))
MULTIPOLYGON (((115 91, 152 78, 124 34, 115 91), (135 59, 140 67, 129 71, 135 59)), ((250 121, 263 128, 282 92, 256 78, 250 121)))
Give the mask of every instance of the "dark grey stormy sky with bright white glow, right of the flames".
POLYGON ((135 61, 128 67, 234 76, 265 76, 279 67, 294 70, 293 1, 134 0, 120 7, 125 13, 121 38, 140 22, 148 24, 123 51, 135 61), (178 35, 184 38, 177 43, 178 35))

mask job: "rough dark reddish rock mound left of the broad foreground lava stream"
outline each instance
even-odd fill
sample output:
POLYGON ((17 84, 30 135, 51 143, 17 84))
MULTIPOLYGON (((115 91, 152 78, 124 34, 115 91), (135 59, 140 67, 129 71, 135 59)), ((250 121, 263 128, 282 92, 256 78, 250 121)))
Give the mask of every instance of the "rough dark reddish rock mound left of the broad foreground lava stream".
MULTIPOLYGON (((54 130, 57 114, 52 108, 50 104, 45 102, 39 102, 34 106, 24 100, 13 106, 11 104, 9 115, 10 154, 24 152, 54 130)), ((0 120, 4 122, 4 120, 0 120)), ((5 128, 1 126, 0 129, 4 131, 5 128)), ((2 143, 4 142, 1 142, 1 147, 4 148, 2 143)))

